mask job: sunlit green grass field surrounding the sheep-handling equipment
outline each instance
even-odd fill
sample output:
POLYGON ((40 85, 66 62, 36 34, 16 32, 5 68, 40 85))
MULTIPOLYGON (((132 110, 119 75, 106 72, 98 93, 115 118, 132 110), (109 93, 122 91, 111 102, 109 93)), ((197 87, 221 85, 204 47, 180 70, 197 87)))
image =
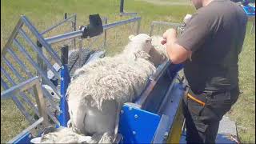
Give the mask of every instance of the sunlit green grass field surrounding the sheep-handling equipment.
MULTIPOLYGON (((137 12, 142 16, 141 33, 149 33, 150 22, 182 22, 186 14, 194 13, 194 7, 185 0, 162 4, 165 0, 129 0, 125 11, 137 12)), ((1 50, 7 42, 11 31, 21 14, 25 14, 39 31, 63 19, 63 14, 77 14, 78 25, 86 25, 89 14, 100 14, 108 22, 120 19, 118 0, 2 0, 1 1, 1 50)), ((117 54, 127 41, 133 25, 123 26, 113 33, 108 32, 106 53, 117 54)), ((246 39, 239 57, 239 79, 242 94, 229 112, 238 124, 238 135, 242 143, 255 143, 255 34, 249 34, 251 22, 248 23, 246 39)), ((62 34, 66 29, 58 29, 51 34, 62 34)), ((161 34, 163 30, 160 30, 161 34)), ((49 35, 46 35, 49 36, 49 35)), ((2 91, 2 87, 1 87, 2 91)), ((1 143, 10 140, 27 126, 22 114, 10 101, 1 101, 1 143)))

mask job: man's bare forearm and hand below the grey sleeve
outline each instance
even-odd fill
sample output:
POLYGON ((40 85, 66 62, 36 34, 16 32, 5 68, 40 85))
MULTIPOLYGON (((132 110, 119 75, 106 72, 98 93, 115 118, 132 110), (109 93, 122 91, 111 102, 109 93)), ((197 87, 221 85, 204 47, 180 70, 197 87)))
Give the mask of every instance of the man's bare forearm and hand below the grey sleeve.
POLYGON ((162 44, 166 44, 166 52, 172 63, 179 64, 185 62, 187 58, 190 58, 192 51, 186 50, 183 46, 178 45, 176 30, 166 30, 163 34, 163 38, 162 44))

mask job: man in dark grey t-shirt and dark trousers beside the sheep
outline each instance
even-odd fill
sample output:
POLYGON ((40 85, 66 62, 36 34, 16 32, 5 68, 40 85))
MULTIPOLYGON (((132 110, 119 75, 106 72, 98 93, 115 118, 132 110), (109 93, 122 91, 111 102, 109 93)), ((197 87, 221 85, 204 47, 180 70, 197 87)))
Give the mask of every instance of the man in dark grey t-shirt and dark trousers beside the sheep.
POLYGON ((183 98, 188 143, 214 143, 219 121, 237 101, 238 54, 246 34, 246 14, 230 0, 192 0, 197 12, 177 38, 166 30, 170 61, 184 62, 188 90, 183 98))

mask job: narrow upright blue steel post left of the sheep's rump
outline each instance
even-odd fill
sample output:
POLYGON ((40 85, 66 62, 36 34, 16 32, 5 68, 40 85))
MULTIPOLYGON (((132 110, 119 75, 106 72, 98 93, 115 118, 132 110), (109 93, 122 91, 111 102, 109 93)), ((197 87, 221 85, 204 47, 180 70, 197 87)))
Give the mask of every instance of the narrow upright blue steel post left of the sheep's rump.
MULTIPOLYGON (((60 110, 61 114, 58 116, 58 121, 61 126, 67 126, 66 123, 70 119, 70 115, 68 113, 68 106, 66 102, 66 89, 70 83, 70 74, 68 72, 68 68, 66 65, 62 65, 61 69, 61 101, 60 101, 60 110)), ((58 126, 57 126, 58 127, 58 126)))

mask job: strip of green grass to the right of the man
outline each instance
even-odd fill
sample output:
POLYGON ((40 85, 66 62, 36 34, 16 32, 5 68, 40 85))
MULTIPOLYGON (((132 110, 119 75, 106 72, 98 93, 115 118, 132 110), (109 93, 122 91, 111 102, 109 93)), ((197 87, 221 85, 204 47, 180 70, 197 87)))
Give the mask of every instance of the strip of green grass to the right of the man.
POLYGON ((238 135, 244 143, 255 143, 255 34, 249 34, 250 26, 247 26, 238 63, 242 94, 229 112, 230 117, 237 122, 238 135))

